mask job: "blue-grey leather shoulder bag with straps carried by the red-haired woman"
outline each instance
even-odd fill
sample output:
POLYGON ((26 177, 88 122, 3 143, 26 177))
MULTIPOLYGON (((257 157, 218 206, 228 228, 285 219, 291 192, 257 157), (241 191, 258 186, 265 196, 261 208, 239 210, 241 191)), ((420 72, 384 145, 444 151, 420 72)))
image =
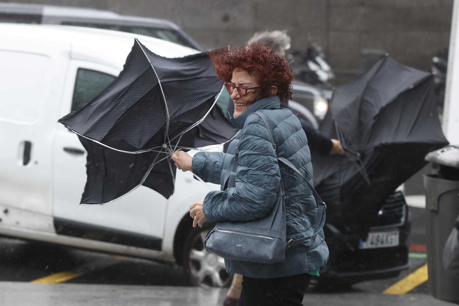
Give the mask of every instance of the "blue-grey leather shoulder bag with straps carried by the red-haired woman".
MULTIPOLYGON (((268 128, 269 137, 277 156, 276 144, 274 142, 273 130, 268 118, 261 112, 255 112, 263 120, 268 128)), ((224 189, 235 186, 235 175, 238 165, 238 151, 236 148, 235 157, 229 164, 227 175, 225 175, 224 189), (232 171, 229 171, 232 167, 232 171)), ((280 188, 277 193, 276 203, 269 214, 261 219, 248 222, 219 222, 212 228, 204 239, 204 245, 208 252, 213 252, 225 259, 252 261, 260 263, 276 263, 284 261, 286 248, 298 245, 303 241, 312 239, 324 227, 325 203, 302 175, 302 173, 287 159, 277 156, 279 162, 291 167, 298 172, 308 183, 317 203, 317 217, 314 224, 314 233, 302 239, 291 238, 287 241, 285 234, 285 198, 284 186, 281 178, 280 188)))

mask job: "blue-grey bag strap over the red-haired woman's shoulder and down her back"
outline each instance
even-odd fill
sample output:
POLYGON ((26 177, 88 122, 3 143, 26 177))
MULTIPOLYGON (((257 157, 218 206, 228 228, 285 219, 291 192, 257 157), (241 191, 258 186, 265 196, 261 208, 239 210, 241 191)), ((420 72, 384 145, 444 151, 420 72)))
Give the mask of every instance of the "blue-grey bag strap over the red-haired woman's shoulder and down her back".
MULTIPOLYGON (((316 205, 317 205, 317 217, 316 217, 316 223, 314 224, 314 232, 311 236, 308 236, 308 237, 303 237, 301 239, 294 239, 294 238, 291 238, 287 243, 287 247, 291 247, 293 245, 299 245, 300 243, 302 243, 303 241, 307 240, 307 239, 310 239, 310 238, 314 238, 317 234, 319 234, 319 232, 322 230, 322 228, 324 228, 324 224, 325 224, 325 209, 327 208, 327 206, 325 205, 325 202, 322 201, 322 199, 320 199, 319 197, 319 194, 317 193, 317 191, 313 188, 313 186, 311 185, 311 183, 309 183, 308 179, 304 177, 304 175, 297 169, 297 167, 295 167, 289 160, 287 160, 286 158, 284 157, 279 157, 277 156, 277 148, 276 148, 276 144, 274 142, 274 136, 273 136, 273 129, 271 127, 271 124, 269 123, 269 120, 268 118, 262 113, 262 112, 255 112, 255 114, 257 114, 258 116, 260 116, 260 118, 263 120, 264 122, 264 125, 266 126, 266 128, 268 129, 268 133, 269 133, 269 137, 271 138, 271 143, 273 144, 273 147, 274 147, 274 153, 277 157, 277 160, 278 161, 281 161, 283 162, 285 165, 287 165, 288 167, 291 167, 295 172, 297 172, 298 174, 301 175, 302 178, 304 178, 304 180, 306 181, 306 183, 308 184, 309 188, 311 189, 312 191, 312 194, 314 196, 314 200, 316 201, 316 205)), ((236 149, 237 150, 237 149, 236 149)), ((237 164, 234 162, 233 164, 233 167, 234 165, 236 165, 237 167, 237 164)), ((282 182, 281 182, 282 184, 282 182)), ((315 239, 314 239, 315 240, 315 239)), ((308 244, 308 245, 312 245, 314 240, 308 244)))

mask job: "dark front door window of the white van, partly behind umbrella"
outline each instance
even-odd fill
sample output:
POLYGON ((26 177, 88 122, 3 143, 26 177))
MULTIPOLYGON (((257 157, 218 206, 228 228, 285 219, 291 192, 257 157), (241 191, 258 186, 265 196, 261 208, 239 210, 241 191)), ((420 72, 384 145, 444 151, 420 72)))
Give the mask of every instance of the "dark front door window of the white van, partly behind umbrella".
POLYGON ((99 95, 115 78, 108 73, 78 68, 75 88, 73 89, 72 111, 99 95))

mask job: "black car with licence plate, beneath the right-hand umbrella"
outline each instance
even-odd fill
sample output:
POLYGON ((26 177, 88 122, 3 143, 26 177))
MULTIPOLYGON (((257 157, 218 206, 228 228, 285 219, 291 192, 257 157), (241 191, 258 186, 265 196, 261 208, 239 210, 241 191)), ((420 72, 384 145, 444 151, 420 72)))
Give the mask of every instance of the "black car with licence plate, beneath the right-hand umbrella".
POLYGON ((397 277, 408 268, 410 223, 403 192, 397 189, 381 205, 365 241, 355 238, 346 225, 327 216, 325 241, 330 261, 319 281, 328 286, 350 286, 360 281, 397 277))

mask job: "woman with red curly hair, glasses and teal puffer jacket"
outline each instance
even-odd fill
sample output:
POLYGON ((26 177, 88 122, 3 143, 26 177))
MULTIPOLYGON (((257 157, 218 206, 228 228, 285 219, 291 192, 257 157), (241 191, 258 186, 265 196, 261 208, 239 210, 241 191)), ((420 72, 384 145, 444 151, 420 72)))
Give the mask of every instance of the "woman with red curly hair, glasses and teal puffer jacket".
MULTIPOLYGON (((280 184, 285 189, 287 239, 310 237, 316 223, 317 204, 305 178, 312 182, 308 140, 298 118, 281 104, 291 97, 293 72, 285 58, 266 45, 254 43, 246 48, 210 53, 218 77, 231 94, 232 116, 241 128, 226 153, 199 152, 190 157, 173 153, 175 165, 192 170, 207 182, 222 184, 204 200, 190 206, 193 227, 205 221, 251 221, 265 217, 274 207, 280 184), (269 129, 259 116, 268 118, 269 129), (226 186, 225 173, 238 155, 235 185, 226 186), (290 161, 301 174, 278 157, 290 161)), ((238 305, 302 305, 312 278, 328 260, 323 231, 285 251, 285 261, 263 264, 225 259, 228 273, 243 275, 238 305)))

